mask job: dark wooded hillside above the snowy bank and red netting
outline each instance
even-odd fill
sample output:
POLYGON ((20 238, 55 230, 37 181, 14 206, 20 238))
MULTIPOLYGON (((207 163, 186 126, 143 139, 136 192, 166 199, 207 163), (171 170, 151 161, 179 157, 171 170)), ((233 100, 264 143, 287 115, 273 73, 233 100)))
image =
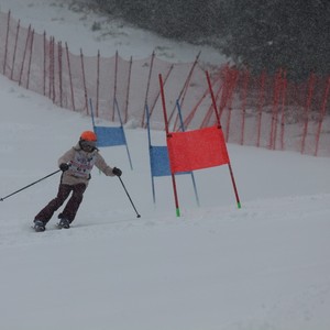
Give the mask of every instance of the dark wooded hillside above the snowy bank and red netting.
POLYGON ((212 45, 255 73, 330 72, 329 0, 89 0, 162 36, 212 45))

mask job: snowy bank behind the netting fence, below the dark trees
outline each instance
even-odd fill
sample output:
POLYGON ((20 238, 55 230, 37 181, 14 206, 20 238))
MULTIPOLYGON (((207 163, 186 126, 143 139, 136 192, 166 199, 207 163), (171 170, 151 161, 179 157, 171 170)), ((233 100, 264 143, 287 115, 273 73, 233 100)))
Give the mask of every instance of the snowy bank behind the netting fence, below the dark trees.
MULTIPOLYGON (((127 26, 119 20, 109 20, 90 12, 85 8, 80 11, 78 4, 72 6, 67 0, 0 0, 0 11, 8 12, 14 19, 21 20, 21 24, 35 29, 35 32, 46 32, 57 41, 67 42, 74 54, 96 56, 100 50, 102 56, 113 56, 116 51, 123 58, 146 58, 153 51, 157 57, 169 62, 194 62, 201 51, 200 61, 211 64, 221 64, 228 59, 211 47, 176 43, 155 34, 127 26), (98 24, 100 30, 94 30, 98 24)), ((84 2, 84 1, 81 1, 84 2)))

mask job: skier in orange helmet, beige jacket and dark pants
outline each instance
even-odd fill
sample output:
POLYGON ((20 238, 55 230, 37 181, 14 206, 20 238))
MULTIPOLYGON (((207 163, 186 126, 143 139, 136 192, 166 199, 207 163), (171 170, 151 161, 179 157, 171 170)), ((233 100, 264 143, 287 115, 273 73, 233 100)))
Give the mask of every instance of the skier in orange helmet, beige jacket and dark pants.
POLYGON ((69 228, 82 200, 82 195, 90 179, 90 172, 96 165, 107 176, 121 176, 118 167, 107 165, 96 147, 97 135, 91 131, 81 133, 76 146, 67 151, 59 160, 62 169, 57 196, 48 202, 34 218, 34 230, 44 231, 54 212, 65 202, 73 193, 63 212, 58 215, 59 228, 69 228))

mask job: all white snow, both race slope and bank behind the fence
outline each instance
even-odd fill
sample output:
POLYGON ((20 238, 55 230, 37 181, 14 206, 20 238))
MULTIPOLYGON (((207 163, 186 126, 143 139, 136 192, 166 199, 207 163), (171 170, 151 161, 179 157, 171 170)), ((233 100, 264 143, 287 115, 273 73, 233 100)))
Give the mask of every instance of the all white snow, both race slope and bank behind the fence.
MULTIPOLYGON (((0 10, 73 52, 143 57, 165 44, 164 56, 183 62, 197 53, 119 23, 98 37, 96 15, 58 3, 1 0, 0 10)), ((56 170, 91 122, 2 76, 0 100, 2 198, 56 170)), ((97 169, 68 230, 54 228, 55 216, 44 233, 30 228, 59 174, 0 201, 0 329, 330 329, 329 158, 229 144, 242 208, 221 166, 195 172, 200 207, 190 177, 177 177, 177 218, 169 177, 155 179, 153 205, 146 131, 125 133, 133 170, 124 147, 101 154, 123 170, 141 218, 119 179, 97 169)), ((152 134, 165 143, 164 132, 152 134)))

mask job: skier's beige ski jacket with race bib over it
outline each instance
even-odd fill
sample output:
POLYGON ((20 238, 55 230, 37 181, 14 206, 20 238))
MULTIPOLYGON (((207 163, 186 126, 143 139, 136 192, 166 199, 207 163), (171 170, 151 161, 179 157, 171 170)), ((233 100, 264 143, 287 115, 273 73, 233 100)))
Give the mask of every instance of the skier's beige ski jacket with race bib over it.
POLYGON ((64 185, 85 184, 87 186, 94 165, 107 176, 114 176, 112 167, 106 163, 98 148, 89 153, 84 151, 79 143, 59 157, 58 166, 63 163, 69 165, 69 169, 64 172, 61 178, 64 185))

